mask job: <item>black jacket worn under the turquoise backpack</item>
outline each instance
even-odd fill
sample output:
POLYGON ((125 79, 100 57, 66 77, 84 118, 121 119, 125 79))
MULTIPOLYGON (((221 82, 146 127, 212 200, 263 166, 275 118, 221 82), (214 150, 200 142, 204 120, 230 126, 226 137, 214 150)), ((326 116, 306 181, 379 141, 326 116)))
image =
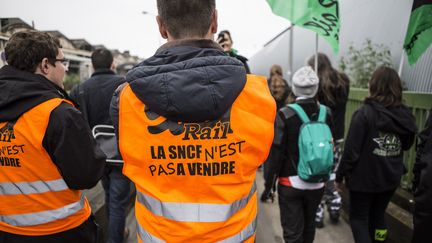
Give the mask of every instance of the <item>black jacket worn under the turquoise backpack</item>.
MULTIPOLYGON (((314 99, 297 100, 308 117, 316 121, 319 114, 318 103, 314 99)), ((332 115, 327 109, 326 123, 332 128, 332 115)), ((266 182, 274 181, 275 177, 288 177, 297 175, 299 160, 298 137, 303 122, 296 112, 289 108, 281 108, 276 116, 275 136, 270 150, 268 174, 265 175, 266 182), (285 110, 285 112, 284 112, 285 110)), ((266 183, 266 190, 271 184, 266 183)))

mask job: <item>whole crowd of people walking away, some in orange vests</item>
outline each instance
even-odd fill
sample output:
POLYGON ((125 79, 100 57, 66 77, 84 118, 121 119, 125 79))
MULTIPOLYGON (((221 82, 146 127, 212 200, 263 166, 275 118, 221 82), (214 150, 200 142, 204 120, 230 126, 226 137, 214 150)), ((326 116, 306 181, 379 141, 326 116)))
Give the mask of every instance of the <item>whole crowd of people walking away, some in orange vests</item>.
MULTIPOLYGON (((279 65, 268 79, 248 75, 231 33, 214 37, 214 0, 157 7, 167 43, 124 77, 109 50, 94 50, 93 75, 70 94, 57 38, 22 31, 9 39, 0 69, 0 243, 99 242, 81 192, 99 180, 109 243, 124 241, 132 185, 139 242, 254 242, 257 198, 276 194, 285 242, 313 242, 325 207, 338 222, 343 190, 355 242, 385 242, 385 210, 417 133, 397 72, 375 70, 345 136, 350 80, 325 54, 290 82, 279 65), (108 140, 95 136, 98 126, 108 140)), ((432 225, 431 146, 429 117, 413 170, 413 243, 427 242, 432 225)))

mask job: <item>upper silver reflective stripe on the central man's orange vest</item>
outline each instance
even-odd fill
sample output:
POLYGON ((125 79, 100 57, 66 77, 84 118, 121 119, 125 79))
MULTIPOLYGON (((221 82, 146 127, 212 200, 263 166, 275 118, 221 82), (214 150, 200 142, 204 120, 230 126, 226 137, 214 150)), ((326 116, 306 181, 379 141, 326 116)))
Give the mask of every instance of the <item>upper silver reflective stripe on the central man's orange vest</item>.
POLYGON ((210 223, 223 222, 231 218, 246 206, 255 191, 256 183, 247 196, 231 204, 161 202, 138 190, 137 199, 150 212, 158 216, 182 222, 210 223))

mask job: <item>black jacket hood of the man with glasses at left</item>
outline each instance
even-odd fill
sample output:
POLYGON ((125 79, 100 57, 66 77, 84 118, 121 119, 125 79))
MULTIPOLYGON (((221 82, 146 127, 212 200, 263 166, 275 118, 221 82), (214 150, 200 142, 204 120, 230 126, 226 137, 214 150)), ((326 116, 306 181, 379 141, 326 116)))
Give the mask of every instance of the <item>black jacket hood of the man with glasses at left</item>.
POLYGON ((0 122, 12 121, 31 108, 67 93, 39 74, 6 65, 0 69, 0 122))

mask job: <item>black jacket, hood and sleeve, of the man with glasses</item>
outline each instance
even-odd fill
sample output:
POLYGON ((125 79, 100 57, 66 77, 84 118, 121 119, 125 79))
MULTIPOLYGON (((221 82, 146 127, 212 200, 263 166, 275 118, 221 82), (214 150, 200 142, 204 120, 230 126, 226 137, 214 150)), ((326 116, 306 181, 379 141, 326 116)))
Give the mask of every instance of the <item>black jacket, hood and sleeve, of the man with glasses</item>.
MULTIPOLYGON (((13 121, 53 98, 69 99, 63 89, 42 75, 8 65, 0 69, 0 122, 13 121)), ((42 145, 71 189, 89 189, 103 174, 105 155, 81 112, 68 103, 51 112, 42 145)))

